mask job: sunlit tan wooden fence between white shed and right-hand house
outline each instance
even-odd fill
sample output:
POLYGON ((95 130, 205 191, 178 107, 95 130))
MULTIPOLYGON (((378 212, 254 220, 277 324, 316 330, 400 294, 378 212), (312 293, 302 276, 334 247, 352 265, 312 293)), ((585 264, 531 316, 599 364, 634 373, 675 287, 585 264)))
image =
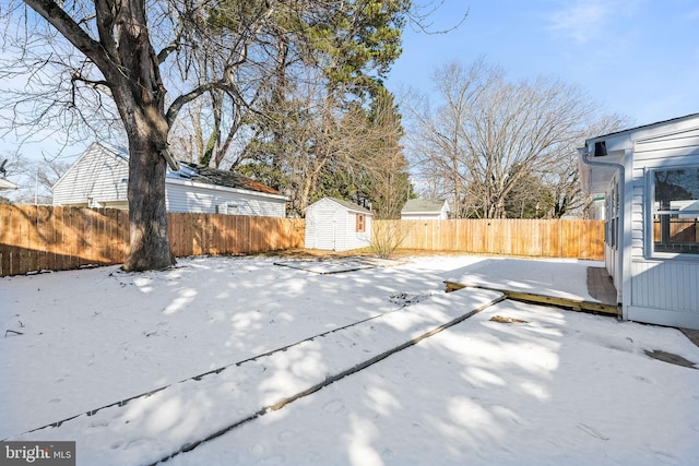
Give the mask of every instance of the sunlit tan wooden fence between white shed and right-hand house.
POLYGON ((375 220, 398 223, 401 249, 604 260, 602 220, 375 220))

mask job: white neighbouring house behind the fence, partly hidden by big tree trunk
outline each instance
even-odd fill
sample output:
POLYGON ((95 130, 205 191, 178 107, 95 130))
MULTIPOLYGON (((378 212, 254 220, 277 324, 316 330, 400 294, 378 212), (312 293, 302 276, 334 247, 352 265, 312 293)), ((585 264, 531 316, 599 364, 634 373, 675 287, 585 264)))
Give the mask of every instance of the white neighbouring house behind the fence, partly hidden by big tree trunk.
MULTIPOLYGON (((230 171, 179 163, 168 168, 168 212, 286 216, 286 196, 230 171)), ((54 184, 54 205, 128 208, 129 153, 92 144, 54 184)))

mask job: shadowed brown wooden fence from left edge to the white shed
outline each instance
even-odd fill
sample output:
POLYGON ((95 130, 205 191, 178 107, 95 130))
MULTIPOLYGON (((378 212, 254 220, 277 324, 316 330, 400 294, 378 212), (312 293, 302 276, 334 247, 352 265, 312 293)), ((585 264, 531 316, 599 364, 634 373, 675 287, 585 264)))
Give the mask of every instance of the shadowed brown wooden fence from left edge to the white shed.
MULTIPOLYGON (((168 224, 177 256, 304 247, 300 219, 170 213, 168 224)), ((0 205, 0 276, 120 264, 128 251, 127 211, 0 205)))

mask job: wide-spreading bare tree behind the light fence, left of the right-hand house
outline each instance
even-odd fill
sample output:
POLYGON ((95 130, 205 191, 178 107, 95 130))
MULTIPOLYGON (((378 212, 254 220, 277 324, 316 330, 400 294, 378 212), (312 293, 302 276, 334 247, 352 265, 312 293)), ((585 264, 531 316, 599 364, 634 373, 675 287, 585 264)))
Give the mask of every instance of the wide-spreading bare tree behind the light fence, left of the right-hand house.
MULTIPOLYGON (((574 177, 570 155, 594 121, 579 88, 544 77, 511 83, 483 60, 467 70, 450 63, 434 76, 439 106, 411 107, 411 147, 420 171, 443 180, 457 217, 502 218, 525 178, 553 183, 564 165, 574 177)), ((572 184, 559 187, 554 195, 570 203, 565 188, 572 184)))

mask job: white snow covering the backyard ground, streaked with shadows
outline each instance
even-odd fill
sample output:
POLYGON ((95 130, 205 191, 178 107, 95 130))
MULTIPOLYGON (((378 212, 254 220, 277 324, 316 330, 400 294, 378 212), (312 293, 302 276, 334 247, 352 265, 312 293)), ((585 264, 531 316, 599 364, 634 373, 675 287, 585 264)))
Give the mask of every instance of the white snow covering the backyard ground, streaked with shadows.
POLYGON ((443 292, 593 300, 600 263, 275 262, 0 278, 0 439, 85 465, 699 464, 699 370, 647 356, 699 363, 680 332, 443 292))

